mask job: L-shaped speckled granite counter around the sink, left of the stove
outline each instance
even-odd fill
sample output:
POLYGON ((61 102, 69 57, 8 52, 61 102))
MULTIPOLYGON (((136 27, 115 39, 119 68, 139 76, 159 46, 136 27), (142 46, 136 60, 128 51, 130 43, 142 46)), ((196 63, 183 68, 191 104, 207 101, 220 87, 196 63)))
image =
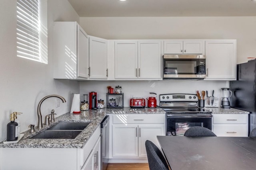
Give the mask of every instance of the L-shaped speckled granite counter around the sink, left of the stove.
POLYGON ((35 127, 35 132, 28 131, 22 132, 24 137, 18 142, 13 144, 0 143, 0 147, 5 148, 82 148, 96 128, 100 125, 107 113, 165 113, 161 108, 143 108, 143 109, 130 109, 124 107, 123 109, 96 109, 82 111, 81 114, 66 113, 55 118, 55 122, 38 129, 35 127), (59 122, 90 122, 90 124, 75 138, 75 139, 30 139, 38 133, 56 125, 59 122))

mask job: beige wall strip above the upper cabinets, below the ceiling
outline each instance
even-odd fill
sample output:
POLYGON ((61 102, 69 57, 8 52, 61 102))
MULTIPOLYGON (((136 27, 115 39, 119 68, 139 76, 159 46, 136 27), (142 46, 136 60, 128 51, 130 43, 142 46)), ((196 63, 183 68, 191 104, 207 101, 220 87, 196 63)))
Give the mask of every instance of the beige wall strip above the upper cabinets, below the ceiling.
POLYGON ((83 17, 88 35, 105 39, 237 39, 237 63, 256 57, 256 17, 83 17))

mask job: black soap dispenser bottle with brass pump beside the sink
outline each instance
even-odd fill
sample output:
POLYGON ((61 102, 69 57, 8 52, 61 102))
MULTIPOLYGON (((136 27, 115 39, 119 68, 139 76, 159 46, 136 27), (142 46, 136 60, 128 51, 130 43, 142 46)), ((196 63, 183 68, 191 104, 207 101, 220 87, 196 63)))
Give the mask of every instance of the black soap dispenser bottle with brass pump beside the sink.
POLYGON ((10 115, 10 123, 7 124, 7 137, 6 141, 18 140, 18 123, 15 120, 15 113, 10 115))

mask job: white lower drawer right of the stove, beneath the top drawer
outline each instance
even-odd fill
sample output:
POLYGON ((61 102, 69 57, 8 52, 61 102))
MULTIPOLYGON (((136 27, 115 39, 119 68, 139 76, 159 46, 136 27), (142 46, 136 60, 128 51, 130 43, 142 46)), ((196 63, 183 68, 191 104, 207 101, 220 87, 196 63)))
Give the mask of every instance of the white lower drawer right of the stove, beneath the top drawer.
POLYGON ((247 137, 247 124, 214 124, 212 131, 218 137, 247 137))

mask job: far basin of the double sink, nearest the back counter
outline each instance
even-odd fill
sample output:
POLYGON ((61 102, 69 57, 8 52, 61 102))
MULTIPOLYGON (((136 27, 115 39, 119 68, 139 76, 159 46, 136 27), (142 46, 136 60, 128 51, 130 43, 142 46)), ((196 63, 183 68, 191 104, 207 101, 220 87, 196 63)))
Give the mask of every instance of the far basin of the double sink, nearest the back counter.
POLYGON ((90 122, 60 122, 47 130, 84 130, 90 122))

